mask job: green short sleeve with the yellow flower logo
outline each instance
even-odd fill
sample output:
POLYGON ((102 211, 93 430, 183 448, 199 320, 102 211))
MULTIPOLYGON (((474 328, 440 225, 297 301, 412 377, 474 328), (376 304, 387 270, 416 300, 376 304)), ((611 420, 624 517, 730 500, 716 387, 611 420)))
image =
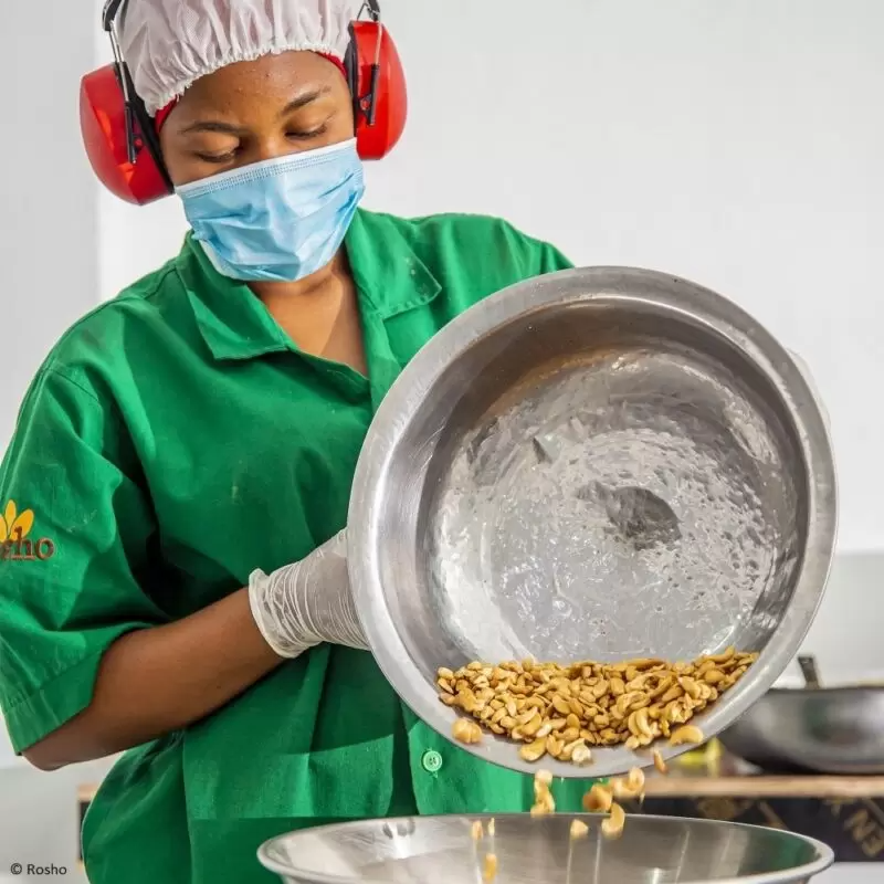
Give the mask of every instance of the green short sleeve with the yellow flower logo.
POLYGON ((116 639, 164 620, 126 440, 112 402, 44 369, 0 467, 0 708, 17 751, 88 706, 116 639))

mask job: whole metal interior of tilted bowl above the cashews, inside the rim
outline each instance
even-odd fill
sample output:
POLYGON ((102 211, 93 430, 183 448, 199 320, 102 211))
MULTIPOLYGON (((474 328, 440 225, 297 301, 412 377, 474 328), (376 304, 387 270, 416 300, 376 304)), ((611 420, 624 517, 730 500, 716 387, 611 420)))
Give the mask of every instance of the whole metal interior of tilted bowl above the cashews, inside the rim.
POLYGON ((794 590, 796 428, 754 364, 683 316, 520 315, 460 355, 398 448, 381 580, 428 678, 760 650, 794 590))

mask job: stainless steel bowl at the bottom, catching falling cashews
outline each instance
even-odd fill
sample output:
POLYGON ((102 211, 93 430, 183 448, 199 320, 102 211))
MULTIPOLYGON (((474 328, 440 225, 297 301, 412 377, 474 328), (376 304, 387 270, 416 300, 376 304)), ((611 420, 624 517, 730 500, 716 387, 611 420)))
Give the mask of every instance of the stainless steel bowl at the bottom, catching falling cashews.
POLYGON ((787 884, 807 882, 833 861, 824 844, 774 829, 712 820, 629 817, 622 838, 569 838, 573 817, 495 819, 478 845, 477 817, 412 817, 308 829, 269 842, 262 864, 288 884, 467 884, 482 882, 494 852, 494 884, 787 884))

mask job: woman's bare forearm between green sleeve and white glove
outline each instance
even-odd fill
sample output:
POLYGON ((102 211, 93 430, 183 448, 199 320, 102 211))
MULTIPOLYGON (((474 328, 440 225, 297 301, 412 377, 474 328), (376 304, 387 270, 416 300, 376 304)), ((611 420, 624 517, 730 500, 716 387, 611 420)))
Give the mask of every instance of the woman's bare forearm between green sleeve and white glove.
POLYGON ((88 708, 27 749, 54 770, 140 746, 199 722, 283 661, 243 589, 176 623, 124 635, 105 653, 88 708))

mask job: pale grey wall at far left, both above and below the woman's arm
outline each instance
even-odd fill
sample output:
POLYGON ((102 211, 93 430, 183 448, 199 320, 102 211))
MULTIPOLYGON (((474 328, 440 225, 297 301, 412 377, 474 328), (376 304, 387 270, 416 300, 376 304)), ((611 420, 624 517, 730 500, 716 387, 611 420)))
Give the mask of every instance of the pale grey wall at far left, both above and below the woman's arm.
MULTIPOLYGON (((39 7, 3 3, 0 25, 14 38, 0 52, 0 451, 48 350, 99 301, 98 188, 77 129, 77 87, 95 62, 96 22, 71 0, 39 7), (63 44, 54 46, 52 35, 63 44)), ((106 768, 42 775, 15 760, 0 734, 0 880, 12 880, 4 873, 13 862, 65 865, 65 880, 82 880, 76 789, 106 768)))

